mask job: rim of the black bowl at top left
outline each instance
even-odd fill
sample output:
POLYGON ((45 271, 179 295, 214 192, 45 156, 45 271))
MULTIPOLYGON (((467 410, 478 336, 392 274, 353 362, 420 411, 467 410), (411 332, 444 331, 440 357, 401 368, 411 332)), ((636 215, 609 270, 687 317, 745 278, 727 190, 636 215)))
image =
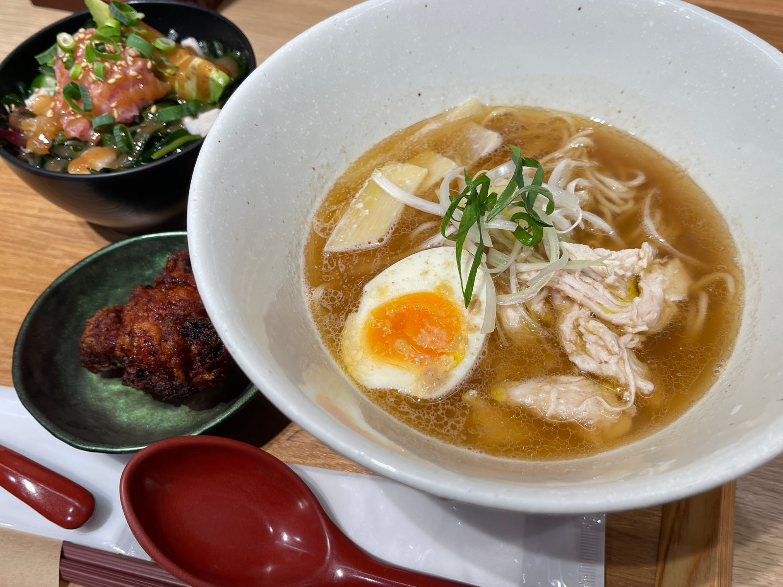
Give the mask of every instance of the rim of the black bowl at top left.
MULTIPOLYGON (((201 13, 202 15, 207 16, 209 18, 220 20, 223 23, 229 25, 229 27, 232 27, 236 31, 236 33, 238 33, 238 36, 244 40, 244 43, 247 45, 247 49, 249 50, 248 57, 250 58, 250 62, 255 63, 255 52, 253 51, 253 45, 251 45, 250 39, 247 38, 247 36, 244 34, 244 32, 242 32, 240 27, 236 26, 235 23, 227 19, 226 16, 223 16, 221 13, 215 12, 215 10, 205 8, 204 6, 190 4, 189 2, 179 2, 177 0, 127 0, 127 3, 131 5, 156 4, 156 5, 176 6, 179 9, 193 10, 196 13, 201 13)), ((12 51, 9 52, 7 56, 5 56, 5 59, 0 61, 0 74, 2 74, 3 69, 5 68, 6 64, 9 63, 9 61, 15 59, 17 56, 20 56, 20 54, 23 54, 24 52, 28 51, 29 45, 32 45, 34 41, 38 41, 39 38, 47 35, 51 38, 54 38, 57 32, 59 32, 59 30, 62 28, 64 23, 69 22, 71 19, 73 19, 74 21, 77 21, 79 19, 86 19, 88 18, 88 16, 89 16, 88 9, 81 10, 78 13, 72 13, 69 14, 68 16, 64 16, 60 20, 57 20, 56 22, 49 24, 49 26, 42 28, 40 31, 36 31, 34 34, 31 34, 31 36, 27 37, 19 45, 16 45, 16 47, 14 47, 12 51)), ((250 75, 252 72, 253 70, 248 70, 247 75, 250 75)), ((13 155, 9 153, 7 150, 5 150, 5 148, 2 146, 0 146, 0 157, 2 157, 2 159, 5 160, 5 162, 8 164, 13 164, 15 167, 19 169, 23 169, 24 171, 31 172, 33 175, 38 175, 44 178, 57 178, 65 182, 83 182, 85 181, 85 178, 96 178, 95 180, 92 181, 101 181, 98 178, 121 178, 124 175, 129 175, 134 172, 138 172, 141 169, 160 167, 161 165, 166 164, 167 161, 177 159, 181 156, 186 155, 187 153, 192 153, 193 151, 198 151, 203 144, 204 144, 204 137, 201 137, 197 141, 194 141, 189 145, 187 145, 184 149, 181 149, 179 153, 172 153, 167 157, 161 157, 161 159, 159 160, 150 161, 150 163, 145 163, 143 165, 139 165, 138 167, 132 167, 131 169, 123 169, 121 171, 111 171, 110 173, 73 174, 73 173, 63 173, 63 171, 49 171, 47 169, 41 169, 40 167, 34 167, 31 164, 27 164, 24 161, 19 160, 16 157, 13 157, 13 155)))

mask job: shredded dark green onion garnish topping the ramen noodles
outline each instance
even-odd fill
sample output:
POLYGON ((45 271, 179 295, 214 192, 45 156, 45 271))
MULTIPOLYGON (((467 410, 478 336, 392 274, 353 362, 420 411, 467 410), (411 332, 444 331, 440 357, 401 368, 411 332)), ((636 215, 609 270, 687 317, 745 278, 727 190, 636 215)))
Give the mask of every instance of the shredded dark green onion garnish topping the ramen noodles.
POLYGON ((552 225, 544 222, 539 214, 533 210, 536 198, 540 195, 549 200, 544 211, 547 214, 554 212, 554 197, 550 191, 543 187, 543 167, 541 164, 530 157, 522 157, 521 149, 510 145, 511 160, 514 161, 514 174, 511 180, 503 189, 503 193, 498 195, 496 192, 490 192, 490 180, 486 175, 478 175, 471 178, 465 171, 465 189, 462 192, 451 197, 451 203, 446 209, 446 214, 441 222, 441 234, 446 239, 456 242, 456 266, 460 273, 460 284, 463 287, 465 308, 471 303, 473 296, 473 286, 481 265, 482 254, 484 252, 484 238, 482 236, 482 221, 489 222, 508 206, 524 207, 524 212, 517 212, 511 215, 509 220, 519 223, 523 221, 525 225, 518 225, 514 230, 514 238, 525 246, 532 247, 543 239, 543 227, 552 225), (522 177, 524 167, 536 167, 536 174, 529 185, 525 185, 525 179, 522 177), (464 202, 463 202, 464 200, 464 202), (462 205, 460 205, 462 204, 462 205), (446 229, 453 220, 454 212, 460 210, 459 228, 453 235, 446 236, 446 229), (478 250, 473 257, 471 268, 467 279, 462 276, 462 251, 464 249, 467 232, 476 226, 478 229, 478 250))

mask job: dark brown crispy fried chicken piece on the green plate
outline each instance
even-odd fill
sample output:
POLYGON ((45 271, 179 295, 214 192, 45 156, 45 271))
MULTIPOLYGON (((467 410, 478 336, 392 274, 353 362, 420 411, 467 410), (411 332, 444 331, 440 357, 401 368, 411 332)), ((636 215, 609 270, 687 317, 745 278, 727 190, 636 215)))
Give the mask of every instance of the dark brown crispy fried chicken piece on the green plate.
POLYGON ((204 310, 187 250, 168 257, 153 286, 136 286, 127 304, 88 319, 79 355, 92 373, 123 369, 124 385, 170 399, 214 386, 233 366, 204 310))

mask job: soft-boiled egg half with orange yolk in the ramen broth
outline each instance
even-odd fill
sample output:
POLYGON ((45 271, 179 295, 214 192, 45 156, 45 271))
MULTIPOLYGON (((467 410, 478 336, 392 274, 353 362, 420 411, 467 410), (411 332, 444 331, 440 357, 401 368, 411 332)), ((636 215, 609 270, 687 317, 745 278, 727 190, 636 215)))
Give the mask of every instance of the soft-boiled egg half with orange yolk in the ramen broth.
MULTIPOLYGON (((465 279, 473 260, 462 256, 465 279)), ((485 275, 465 308, 453 247, 422 250, 364 286, 342 331, 348 374, 370 389, 442 398, 471 370, 484 347, 485 275)))

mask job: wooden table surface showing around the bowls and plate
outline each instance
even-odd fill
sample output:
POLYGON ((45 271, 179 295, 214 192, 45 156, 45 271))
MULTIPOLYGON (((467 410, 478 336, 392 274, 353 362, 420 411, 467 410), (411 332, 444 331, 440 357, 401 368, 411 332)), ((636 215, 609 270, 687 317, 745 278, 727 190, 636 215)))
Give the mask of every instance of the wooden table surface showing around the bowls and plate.
MULTIPOLYGON (((222 8, 251 39, 261 62, 283 43, 320 20, 348 8, 354 0, 234 0, 222 8)), ((700 0, 706 9, 734 20, 783 49, 783 1, 700 0)), ((60 10, 34 7, 26 0, 0 0, 0 59, 30 34, 65 16, 60 10)), ((0 384, 12 385, 11 355, 16 332, 35 298, 52 279, 79 259, 121 238, 96 231, 85 221, 55 207, 0 164, 0 384)), ((248 441, 292 463, 363 471, 316 441, 262 399, 229 423, 233 435, 244 430, 248 441), (258 412, 276 423, 264 436, 247 425, 258 412)), ((2 423, 0 423, 2 426, 2 423)), ((608 516, 606 585, 662 585, 668 572, 679 576, 669 585, 728 585, 731 565, 731 516, 734 514, 733 584, 770 587, 783 584, 783 457, 709 495, 663 508, 650 507, 608 516), (692 516, 695 524, 682 522, 692 516), (662 524, 662 519, 664 524, 662 524), (695 531, 683 535, 684 531, 695 531), (721 540, 720 536, 724 539, 721 540), (666 568, 656 567, 661 560, 666 568), (706 562, 705 562, 706 561, 706 562), (702 567, 698 564, 702 563, 702 567), (715 579, 715 569, 723 578, 715 579)))

